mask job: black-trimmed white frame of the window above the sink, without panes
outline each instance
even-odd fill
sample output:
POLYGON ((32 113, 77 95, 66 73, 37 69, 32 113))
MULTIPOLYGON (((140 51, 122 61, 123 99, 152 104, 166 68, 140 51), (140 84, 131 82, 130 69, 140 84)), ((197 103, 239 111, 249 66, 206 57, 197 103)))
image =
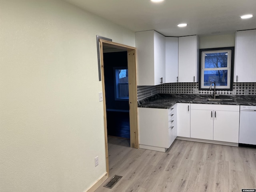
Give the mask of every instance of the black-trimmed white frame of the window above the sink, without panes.
MULTIPOLYGON (((204 53, 205 52, 230 52, 230 57, 228 57, 228 65, 225 68, 218 68, 218 70, 226 70, 228 69, 228 85, 227 86, 217 86, 216 90, 233 90, 233 78, 234 78, 234 47, 222 47, 222 48, 208 48, 208 49, 200 49, 199 53, 199 90, 209 90, 209 87, 204 86, 204 53), (230 61, 230 62, 229 62, 230 61)), ((216 68, 210 68, 216 69, 216 68)))

